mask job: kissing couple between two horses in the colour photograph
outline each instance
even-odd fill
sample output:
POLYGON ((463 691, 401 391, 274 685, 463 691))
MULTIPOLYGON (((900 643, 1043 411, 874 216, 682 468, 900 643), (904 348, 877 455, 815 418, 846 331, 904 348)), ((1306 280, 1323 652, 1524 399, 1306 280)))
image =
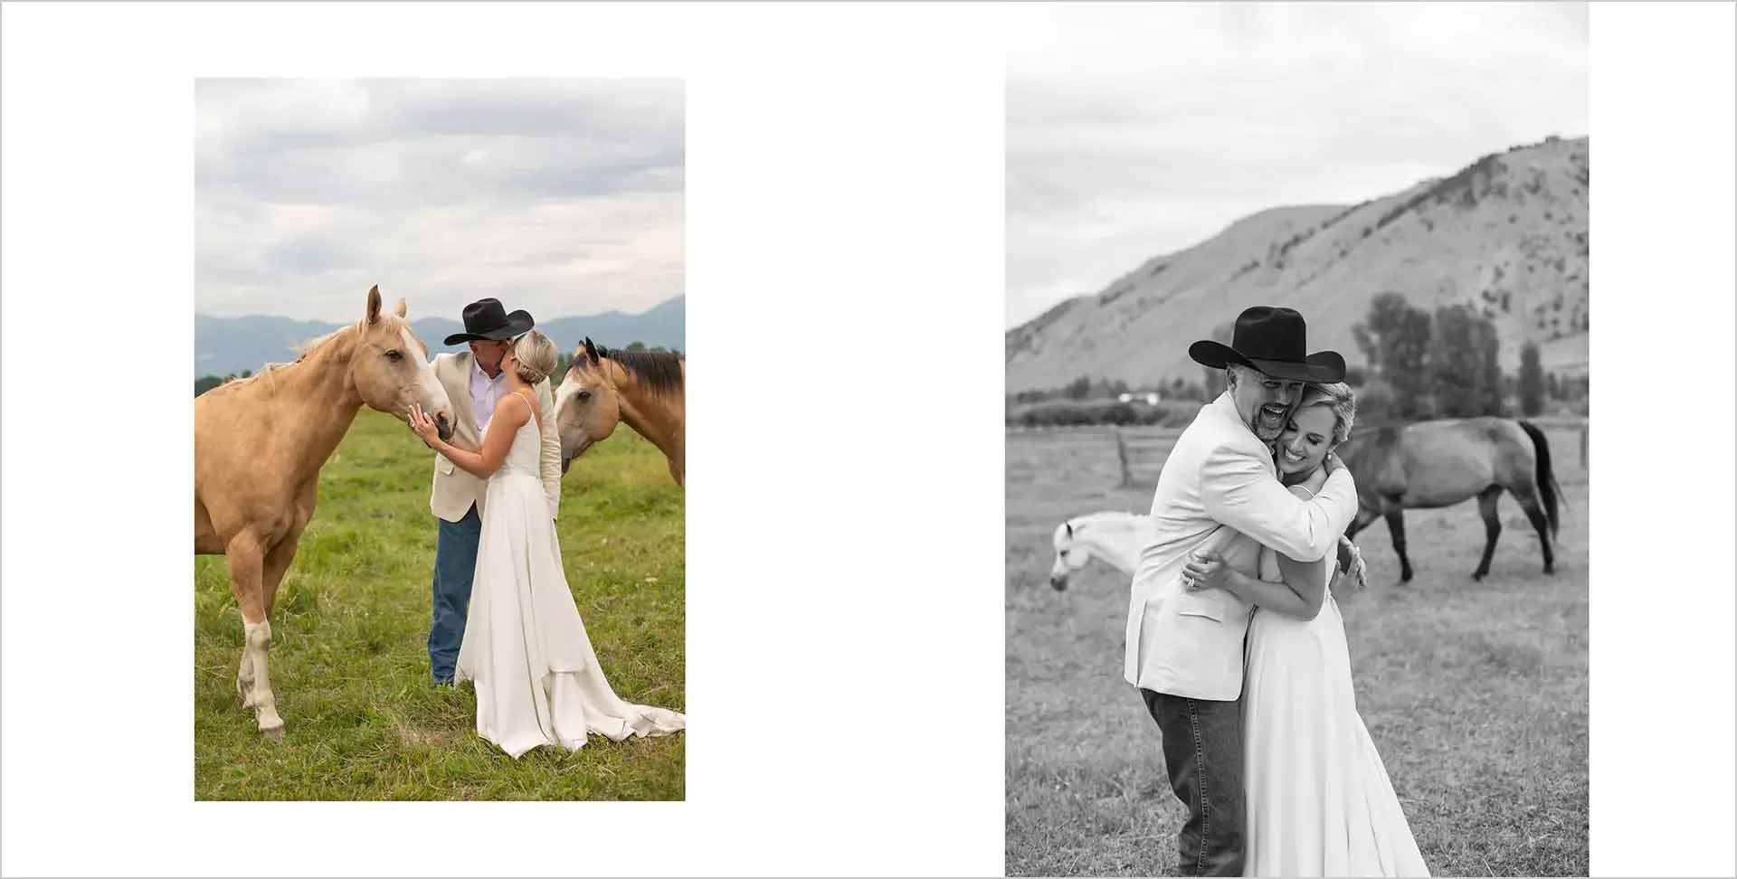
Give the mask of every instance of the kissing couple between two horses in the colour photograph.
POLYGON ((528 311, 495 299, 464 307, 464 332, 434 375, 453 401, 452 441, 410 412, 436 452, 429 507, 439 518, 429 665, 436 684, 476 684, 476 733, 518 757, 577 750, 587 733, 669 735, 686 717, 622 702, 598 665, 561 570, 554 519, 561 446, 549 373, 556 347, 528 311))

